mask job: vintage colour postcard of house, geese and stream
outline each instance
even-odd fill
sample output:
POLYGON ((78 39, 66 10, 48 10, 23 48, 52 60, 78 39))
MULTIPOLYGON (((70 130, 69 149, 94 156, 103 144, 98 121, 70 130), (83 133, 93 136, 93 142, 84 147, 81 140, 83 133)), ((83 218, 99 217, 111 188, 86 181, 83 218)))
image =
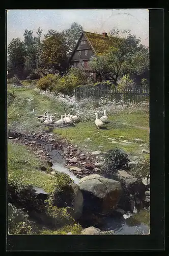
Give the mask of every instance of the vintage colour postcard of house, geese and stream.
POLYGON ((149 10, 8 10, 7 104, 9 234, 150 234, 149 10))

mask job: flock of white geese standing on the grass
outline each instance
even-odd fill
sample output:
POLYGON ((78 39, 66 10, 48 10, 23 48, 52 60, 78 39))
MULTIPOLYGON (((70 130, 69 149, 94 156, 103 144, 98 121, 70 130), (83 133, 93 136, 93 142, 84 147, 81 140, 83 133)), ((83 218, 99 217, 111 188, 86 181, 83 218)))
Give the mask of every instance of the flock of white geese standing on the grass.
MULTIPOLYGON (((79 120, 77 115, 71 115, 70 113, 68 115, 66 115, 66 113, 65 113, 65 117, 63 117, 63 115, 61 115, 61 118, 58 121, 54 122, 53 119, 55 118, 55 115, 57 115, 57 113, 54 113, 54 116, 52 116, 52 115, 49 115, 48 111, 46 111, 44 113, 44 115, 40 115, 40 116, 36 116, 36 117, 40 120, 40 122, 43 122, 46 125, 54 124, 55 126, 69 125, 69 124, 75 123, 79 120)), ((96 124, 97 129, 99 129, 107 121, 108 117, 106 115, 106 110, 104 110, 104 115, 100 118, 98 118, 97 113, 95 113, 95 115, 96 115, 95 124, 96 124)))

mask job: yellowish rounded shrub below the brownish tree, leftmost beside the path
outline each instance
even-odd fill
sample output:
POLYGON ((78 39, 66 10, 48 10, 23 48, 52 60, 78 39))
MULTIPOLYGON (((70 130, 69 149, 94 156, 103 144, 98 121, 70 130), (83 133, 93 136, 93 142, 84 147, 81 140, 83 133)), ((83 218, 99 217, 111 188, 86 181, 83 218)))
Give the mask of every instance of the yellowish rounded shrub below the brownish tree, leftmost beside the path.
POLYGON ((37 88, 40 90, 46 91, 49 90, 50 92, 53 91, 58 84, 58 80, 61 78, 59 74, 48 74, 39 79, 37 82, 37 88))

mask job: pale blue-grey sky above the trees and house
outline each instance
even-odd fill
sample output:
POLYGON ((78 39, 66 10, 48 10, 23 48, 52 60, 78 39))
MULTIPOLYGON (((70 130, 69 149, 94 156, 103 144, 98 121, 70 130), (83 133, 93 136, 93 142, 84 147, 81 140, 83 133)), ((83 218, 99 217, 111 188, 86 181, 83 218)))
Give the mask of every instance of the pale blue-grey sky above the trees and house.
POLYGON ((148 9, 10 9, 7 11, 7 44, 15 38, 23 39, 24 30, 33 30, 36 36, 38 27, 43 35, 49 29, 58 32, 70 28, 77 22, 83 30, 99 33, 113 28, 130 29, 141 38, 141 43, 149 46, 148 9))

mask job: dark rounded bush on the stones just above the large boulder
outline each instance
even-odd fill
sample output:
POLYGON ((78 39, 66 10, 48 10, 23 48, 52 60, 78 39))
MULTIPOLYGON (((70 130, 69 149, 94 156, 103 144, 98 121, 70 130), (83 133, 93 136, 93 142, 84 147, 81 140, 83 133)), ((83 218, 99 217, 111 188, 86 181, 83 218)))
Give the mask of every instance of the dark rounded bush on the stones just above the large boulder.
POLYGON ((116 174, 118 169, 128 168, 128 155, 121 148, 114 148, 105 154, 105 172, 108 174, 116 174))

